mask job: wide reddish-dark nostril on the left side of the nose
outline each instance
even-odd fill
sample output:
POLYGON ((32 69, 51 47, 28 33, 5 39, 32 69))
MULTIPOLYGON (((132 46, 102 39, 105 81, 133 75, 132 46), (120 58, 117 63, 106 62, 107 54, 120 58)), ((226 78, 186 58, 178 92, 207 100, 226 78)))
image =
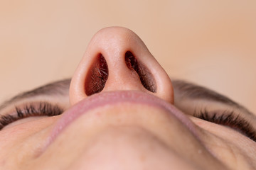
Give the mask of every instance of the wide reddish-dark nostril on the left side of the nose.
POLYGON ((96 57, 85 79, 85 94, 90 96, 99 93, 105 87, 108 78, 107 62, 102 54, 96 57))

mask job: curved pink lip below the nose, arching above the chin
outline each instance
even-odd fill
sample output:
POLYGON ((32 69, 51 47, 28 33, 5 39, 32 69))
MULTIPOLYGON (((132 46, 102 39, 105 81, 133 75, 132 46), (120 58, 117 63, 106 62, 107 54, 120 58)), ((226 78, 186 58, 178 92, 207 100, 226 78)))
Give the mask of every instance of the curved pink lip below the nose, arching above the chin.
MULTIPOLYGON (((58 135, 60 135, 60 133, 65 128, 68 127, 68 125, 70 125, 70 123, 79 118, 80 115, 87 113, 87 111, 90 111, 93 108, 122 102, 141 103, 155 106, 158 108, 163 108, 169 113, 176 116, 178 120, 186 125, 186 127, 193 133, 193 135, 198 137, 195 125, 191 122, 191 120, 189 120, 184 113, 178 111, 175 106, 167 103, 161 98, 146 94, 141 91, 111 91, 89 96, 77 103, 72 108, 68 109, 68 111, 65 111, 62 117, 55 124, 52 132, 50 132, 50 135, 46 140, 46 145, 45 147, 43 147, 41 153, 43 153, 47 149, 47 147, 55 140, 56 137, 58 137, 58 135)), ((38 156, 40 156, 40 154, 38 156)))

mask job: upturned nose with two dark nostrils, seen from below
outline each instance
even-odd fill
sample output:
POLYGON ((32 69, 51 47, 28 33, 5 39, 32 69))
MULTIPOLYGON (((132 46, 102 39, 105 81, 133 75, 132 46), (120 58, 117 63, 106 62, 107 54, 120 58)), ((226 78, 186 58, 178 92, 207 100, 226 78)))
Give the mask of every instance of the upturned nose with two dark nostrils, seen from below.
POLYGON ((103 28, 93 36, 73 75, 70 103, 104 91, 144 91, 174 103, 168 74, 127 28, 103 28))

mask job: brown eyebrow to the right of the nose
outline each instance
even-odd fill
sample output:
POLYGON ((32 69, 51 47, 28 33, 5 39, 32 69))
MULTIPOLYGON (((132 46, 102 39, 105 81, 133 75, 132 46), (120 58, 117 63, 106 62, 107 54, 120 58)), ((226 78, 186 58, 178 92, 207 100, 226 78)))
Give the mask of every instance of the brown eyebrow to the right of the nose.
POLYGON ((253 115, 250 111, 247 110, 247 108, 241 106, 226 96, 207 89, 206 87, 183 80, 172 80, 172 84, 174 86, 174 96, 178 95, 181 98, 205 99, 207 101, 224 103, 226 105, 233 106, 242 111, 245 111, 250 115, 253 115))

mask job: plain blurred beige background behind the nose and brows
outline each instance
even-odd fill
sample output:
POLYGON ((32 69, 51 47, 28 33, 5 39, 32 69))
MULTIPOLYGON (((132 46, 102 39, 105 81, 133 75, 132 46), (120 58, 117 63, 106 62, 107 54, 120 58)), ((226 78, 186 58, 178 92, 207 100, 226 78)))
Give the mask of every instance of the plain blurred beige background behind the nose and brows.
POLYGON ((171 77, 256 112, 255 0, 0 0, 0 101, 71 77, 107 26, 134 30, 171 77))

